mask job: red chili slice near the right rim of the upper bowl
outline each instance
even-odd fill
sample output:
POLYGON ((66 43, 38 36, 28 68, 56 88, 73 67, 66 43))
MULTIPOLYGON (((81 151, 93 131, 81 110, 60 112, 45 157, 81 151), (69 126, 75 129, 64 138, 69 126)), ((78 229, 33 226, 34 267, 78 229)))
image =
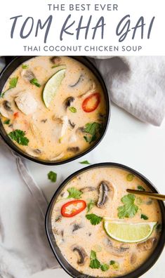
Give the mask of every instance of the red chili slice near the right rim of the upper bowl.
POLYGON ((82 102, 82 109, 85 112, 93 112, 98 107, 100 99, 100 93, 92 93, 82 102))

